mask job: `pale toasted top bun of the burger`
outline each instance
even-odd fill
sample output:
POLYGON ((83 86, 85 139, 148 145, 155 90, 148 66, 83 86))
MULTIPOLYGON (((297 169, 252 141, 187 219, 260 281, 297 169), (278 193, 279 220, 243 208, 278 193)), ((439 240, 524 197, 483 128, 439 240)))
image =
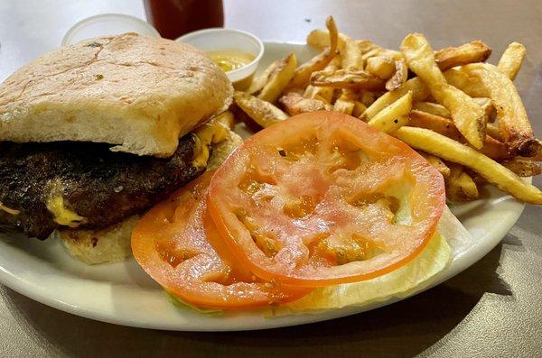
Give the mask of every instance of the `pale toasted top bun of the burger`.
POLYGON ((136 33, 48 52, 0 86, 0 141, 107 142, 167 157, 226 110, 233 87, 200 50, 136 33))

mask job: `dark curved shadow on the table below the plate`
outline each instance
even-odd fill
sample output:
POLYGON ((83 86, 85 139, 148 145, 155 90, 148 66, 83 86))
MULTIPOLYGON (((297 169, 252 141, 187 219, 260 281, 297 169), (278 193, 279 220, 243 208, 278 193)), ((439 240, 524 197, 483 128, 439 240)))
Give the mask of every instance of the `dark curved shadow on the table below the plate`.
MULTIPOLYGON (((510 236, 505 243, 520 245, 510 236)), ((391 306, 264 331, 182 333, 115 326, 45 307, 12 290, 6 296, 34 339, 69 356, 412 356, 453 330, 485 292, 513 299, 497 273, 501 249, 502 243, 453 279, 391 306)))

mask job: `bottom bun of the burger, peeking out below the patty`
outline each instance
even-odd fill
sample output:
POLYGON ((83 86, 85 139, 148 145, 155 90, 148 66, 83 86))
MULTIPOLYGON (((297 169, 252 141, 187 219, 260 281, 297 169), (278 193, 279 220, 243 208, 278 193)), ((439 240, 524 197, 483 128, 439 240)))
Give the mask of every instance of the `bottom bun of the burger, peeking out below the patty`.
MULTIPOLYGON (((213 145, 208 170, 220 167, 242 142, 237 133, 229 131, 224 141, 213 145)), ((60 237, 73 257, 89 265, 120 262, 132 255, 130 240, 138 220, 139 216, 130 216, 117 225, 98 230, 62 229, 60 237)))

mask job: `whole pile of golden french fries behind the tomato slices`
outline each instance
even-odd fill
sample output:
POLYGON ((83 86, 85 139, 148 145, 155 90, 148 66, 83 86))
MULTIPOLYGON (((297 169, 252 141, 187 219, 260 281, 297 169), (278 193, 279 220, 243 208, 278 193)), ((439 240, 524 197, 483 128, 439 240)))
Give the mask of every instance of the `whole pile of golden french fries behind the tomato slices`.
POLYGON ((312 60, 289 54, 236 92, 242 115, 263 128, 317 110, 353 115, 419 151, 443 175, 450 201, 477 199, 489 182, 542 204, 542 192, 519 178, 542 172, 542 142, 512 82, 522 44, 510 43, 494 66, 482 41, 435 51, 410 33, 389 50, 338 32, 331 16, 326 26, 307 37, 322 50, 312 60))

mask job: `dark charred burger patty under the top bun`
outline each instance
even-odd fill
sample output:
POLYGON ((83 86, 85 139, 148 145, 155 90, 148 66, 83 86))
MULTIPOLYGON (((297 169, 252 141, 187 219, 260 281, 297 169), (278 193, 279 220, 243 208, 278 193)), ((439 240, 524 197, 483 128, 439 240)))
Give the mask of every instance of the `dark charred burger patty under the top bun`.
MULTIPOLYGON (((102 228, 141 213, 198 177, 195 140, 186 135, 170 158, 139 157, 89 142, 0 143, 0 227, 47 238, 60 225, 47 205, 102 228), (18 213, 16 211, 18 211, 18 213), (11 213, 9 213, 11 211, 11 213)), ((77 224, 76 224, 77 225, 77 224)))

